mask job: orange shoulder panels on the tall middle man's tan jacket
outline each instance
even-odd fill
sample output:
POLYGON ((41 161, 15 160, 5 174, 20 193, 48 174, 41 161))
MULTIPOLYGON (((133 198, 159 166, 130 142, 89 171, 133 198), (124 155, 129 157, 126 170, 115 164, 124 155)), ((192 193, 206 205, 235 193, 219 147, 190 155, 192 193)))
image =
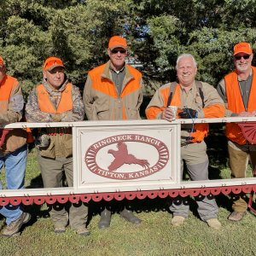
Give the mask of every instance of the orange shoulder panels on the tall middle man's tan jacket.
MULTIPOLYGON (((103 64, 102 66, 96 67, 89 72, 90 79, 92 81, 92 87, 94 90, 98 90, 113 99, 117 99, 119 96, 113 82, 108 78, 102 77, 102 73, 106 65, 107 64, 103 64)), ((126 67, 133 76, 133 79, 129 80, 125 84, 124 90, 122 90, 120 98, 124 98, 125 96, 130 95, 133 91, 140 89, 141 86, 140 79, 142 78, 142 74, 138 72, 137 69, 135 69, 134 67, 131 67, 129 65, 126 65, 126 67)), ((136 97, 135 100, 137 101, 136 97)), ((124 105, 122 109, 122 115, 123 119, 127 119, 124 105)))

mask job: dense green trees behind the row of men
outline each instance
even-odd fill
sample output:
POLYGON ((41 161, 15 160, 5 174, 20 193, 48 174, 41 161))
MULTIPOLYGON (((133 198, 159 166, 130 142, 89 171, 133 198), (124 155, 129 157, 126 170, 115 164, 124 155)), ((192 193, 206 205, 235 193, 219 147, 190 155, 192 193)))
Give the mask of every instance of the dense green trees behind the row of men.
POLYGON ((25 95, 42 79, 49 55, 66 64, 73 84, 108 61, 108 38, 125 36, 150 96, 176 79, 176 60, 191 53, 197 79, 214 86, 233 68, 233 46, 256 41, 256 0, 5 0, 0 2, 0 55, 25 95))

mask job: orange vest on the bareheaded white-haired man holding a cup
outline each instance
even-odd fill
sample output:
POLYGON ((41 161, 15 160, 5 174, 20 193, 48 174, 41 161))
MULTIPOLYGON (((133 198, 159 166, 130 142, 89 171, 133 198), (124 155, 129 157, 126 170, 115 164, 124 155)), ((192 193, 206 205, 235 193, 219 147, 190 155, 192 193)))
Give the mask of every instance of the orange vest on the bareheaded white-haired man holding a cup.
MULTIPOLYGON (((181 106, 181 87, 176 86, 174 95, 172 96, 172 106, 181 106)), ((191 132, 191 137, 194 137, 193 139, 189 140, 191 143, 201 143, 205 137, 207 137, 208 131, 209 131, 209 125, 208 124, 195 124, 194 126, 195 131, 191 132)))

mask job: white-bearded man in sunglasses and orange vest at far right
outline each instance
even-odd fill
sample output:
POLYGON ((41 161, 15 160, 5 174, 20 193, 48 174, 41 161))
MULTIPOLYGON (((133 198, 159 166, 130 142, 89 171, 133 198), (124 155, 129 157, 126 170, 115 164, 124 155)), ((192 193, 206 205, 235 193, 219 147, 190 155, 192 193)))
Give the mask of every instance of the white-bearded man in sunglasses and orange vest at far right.
MULTIPOLYGON (((233 61, 236 70, 224 76, 218 83, 218 94, 225 103, 225 115, 255 116, 256 110, 256 68, 252 66, 253 49, 241 42, 234 47, 233 61)), ((226 124, 231 177, 246 177, 250 158, 253 170, 256 164, 256 146, 247 142, 236 123, 226 124)), ((232 195, 232 209, 229 219, 240 221, 247 212, 246 195, 232 195)))

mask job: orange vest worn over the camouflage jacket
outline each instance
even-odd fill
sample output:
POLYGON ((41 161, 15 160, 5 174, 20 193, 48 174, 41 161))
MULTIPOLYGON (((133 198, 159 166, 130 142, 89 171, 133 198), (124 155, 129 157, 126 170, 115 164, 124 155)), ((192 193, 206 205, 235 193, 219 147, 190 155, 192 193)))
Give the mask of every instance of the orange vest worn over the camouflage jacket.
POLYGON ((55 108, 53 102, 49 98, 49 93, 45 89, 44 84, 39 84, 38 91, 38 107, 41 111, 46 113, 64 113, 73 109, 72 100, 72 84, 68 83, 65 90, 61 92, 61 102, 58 107, 55 108))

